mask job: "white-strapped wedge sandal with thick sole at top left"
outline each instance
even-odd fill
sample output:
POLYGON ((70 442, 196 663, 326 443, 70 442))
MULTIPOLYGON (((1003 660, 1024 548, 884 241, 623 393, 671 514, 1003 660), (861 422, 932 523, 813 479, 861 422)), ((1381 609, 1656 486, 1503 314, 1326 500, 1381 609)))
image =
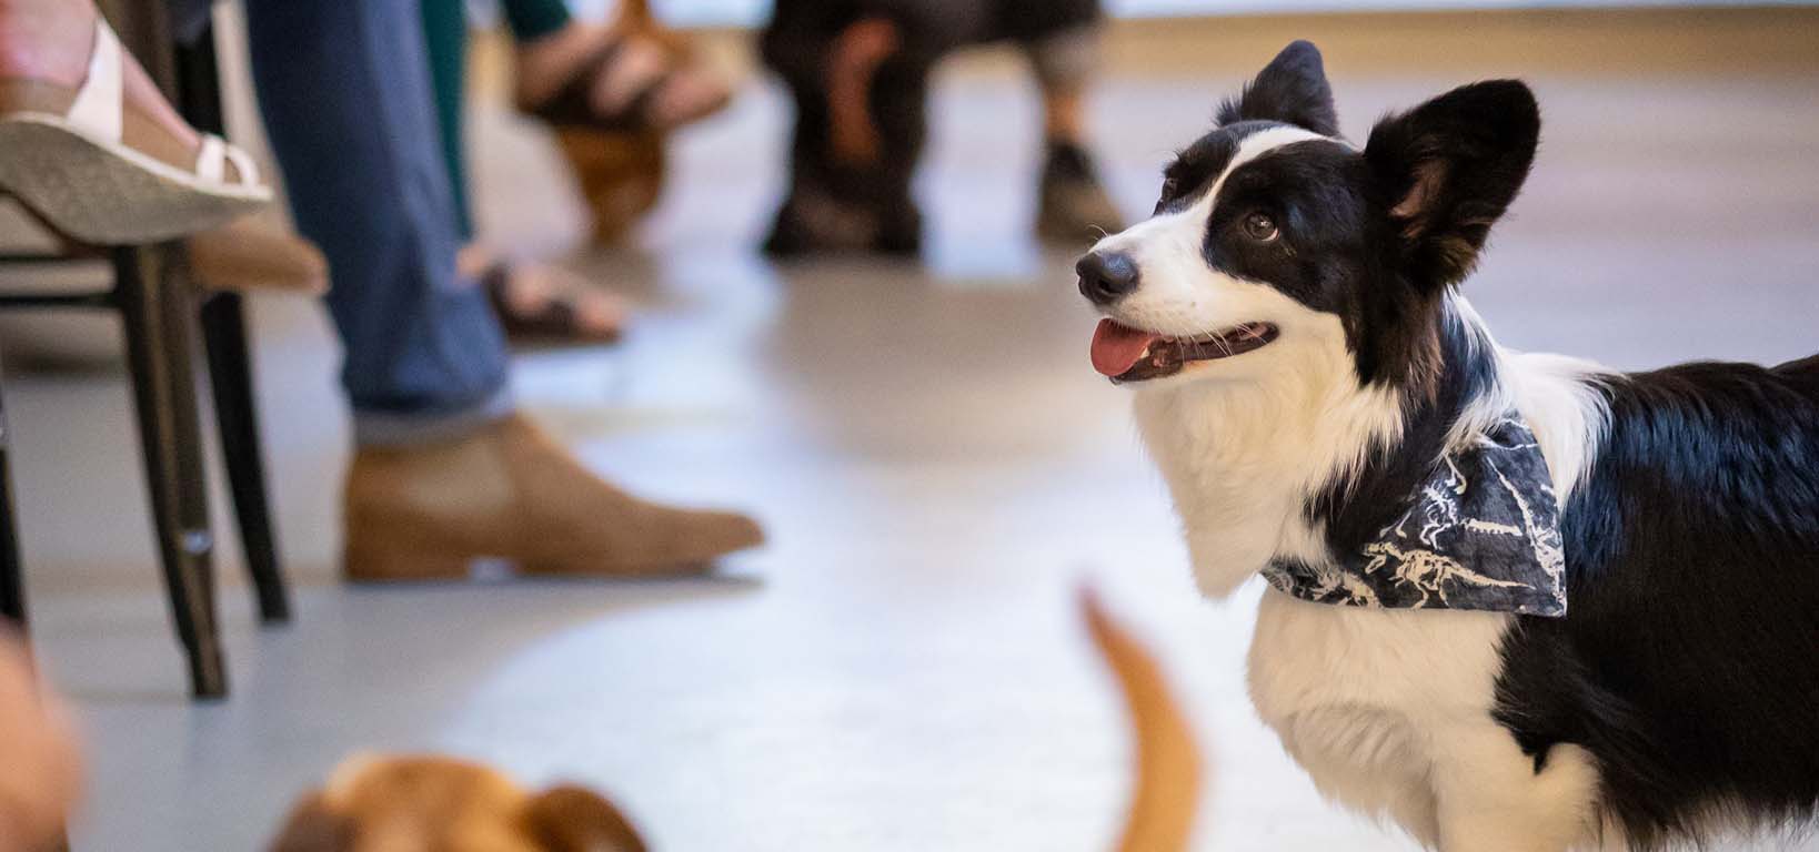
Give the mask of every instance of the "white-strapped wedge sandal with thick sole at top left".
POLYGON ((0 193, 96 245, 207 231, 271 200, 246 151, 204 134, 191 153, 126 104, 122 62, 120 40, 96 18, 80 89, 0 80, 0 193))

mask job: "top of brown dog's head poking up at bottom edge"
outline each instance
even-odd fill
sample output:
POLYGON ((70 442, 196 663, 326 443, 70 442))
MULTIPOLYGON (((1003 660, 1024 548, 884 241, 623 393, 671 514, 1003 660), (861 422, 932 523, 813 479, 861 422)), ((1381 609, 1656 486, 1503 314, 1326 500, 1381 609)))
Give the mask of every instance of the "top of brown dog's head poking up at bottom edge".
POLYGON ((306 796, 273 852, 644 852, 609 801, 580 787, 529 794, 451 758, 355 758, 306 796))

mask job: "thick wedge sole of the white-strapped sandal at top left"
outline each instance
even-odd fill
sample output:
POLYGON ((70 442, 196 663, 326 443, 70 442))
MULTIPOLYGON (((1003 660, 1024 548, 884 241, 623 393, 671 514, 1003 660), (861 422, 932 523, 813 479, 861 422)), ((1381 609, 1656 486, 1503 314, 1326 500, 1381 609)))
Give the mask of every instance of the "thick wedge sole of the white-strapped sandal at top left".
POLYGON ((60 116, 0 118, 0 193, 58 233, 93 245, 144 245, 226 225, 271 189, 204 182, 60 116))

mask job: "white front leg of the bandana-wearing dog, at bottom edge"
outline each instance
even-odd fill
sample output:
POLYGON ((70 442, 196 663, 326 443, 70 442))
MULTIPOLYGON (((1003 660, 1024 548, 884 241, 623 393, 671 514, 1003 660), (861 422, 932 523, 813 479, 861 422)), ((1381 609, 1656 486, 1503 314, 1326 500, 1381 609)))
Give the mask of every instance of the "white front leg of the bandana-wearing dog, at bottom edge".
POLYGON ((1484 721, 1435 738, 1441 852, 1566 852, 1595 836, 1597 770, 1555 745, 1541 772, 1502 727, 1484 721))

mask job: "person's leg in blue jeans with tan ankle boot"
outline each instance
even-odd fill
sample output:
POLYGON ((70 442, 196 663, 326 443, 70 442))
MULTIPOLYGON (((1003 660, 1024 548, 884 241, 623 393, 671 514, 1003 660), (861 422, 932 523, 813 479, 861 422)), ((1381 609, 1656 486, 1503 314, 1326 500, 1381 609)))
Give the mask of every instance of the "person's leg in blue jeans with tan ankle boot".
POLYGON ((455 272, 415 0, 249 0, 247 33, 293 214, 333 271, 358 443, 349 580, 455 580, 478 556, 533 574, 646 574, 762 541, 748 518, 600 481, 511 411, 498 323, 455 272))

